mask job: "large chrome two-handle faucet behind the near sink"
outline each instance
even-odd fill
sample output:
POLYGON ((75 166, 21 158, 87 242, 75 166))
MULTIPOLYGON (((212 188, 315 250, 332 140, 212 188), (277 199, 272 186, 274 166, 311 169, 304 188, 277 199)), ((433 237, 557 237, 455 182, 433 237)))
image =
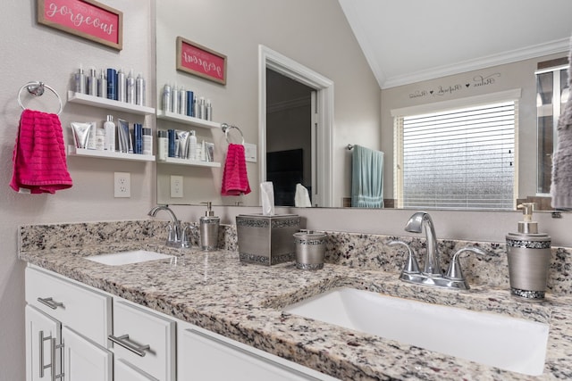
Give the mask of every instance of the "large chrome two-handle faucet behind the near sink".
POLYGON ((486 253, 474 246, 467 246, 457 251, 450 261, 449 269, 443 275, 439 250, 437 249, 437 237, 433 226, 433 219, 425 211, 417 211, 405 226, 405 230, 411 233, 422 233, 425 229, 427 253, 425 253, 425 267, 423 272, 419 271, 416 259, 408 244, 401 241, 391 241, 390 246, 396 244, 405 245, 408 248, 408 261, 401 271, 400 279, 409 283, 416 283, 425 286, 437 286, 443 288, 454 288, 458 290, 468 290, 467 279, 463 275, 459 262, 460 254, 472 252, 481 255, 486 253))

